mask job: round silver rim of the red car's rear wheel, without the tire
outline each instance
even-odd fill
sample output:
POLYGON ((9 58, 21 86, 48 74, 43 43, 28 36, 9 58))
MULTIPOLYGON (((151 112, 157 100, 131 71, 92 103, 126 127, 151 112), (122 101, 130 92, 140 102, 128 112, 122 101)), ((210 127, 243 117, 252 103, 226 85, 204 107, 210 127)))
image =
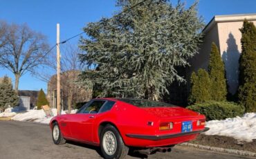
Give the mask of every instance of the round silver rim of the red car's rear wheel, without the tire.
POLYGON ((107 131, 103 135, 102 146, 104 151, 109 155, 113 155, 116 152, 116 136, 112 131, 107 131))

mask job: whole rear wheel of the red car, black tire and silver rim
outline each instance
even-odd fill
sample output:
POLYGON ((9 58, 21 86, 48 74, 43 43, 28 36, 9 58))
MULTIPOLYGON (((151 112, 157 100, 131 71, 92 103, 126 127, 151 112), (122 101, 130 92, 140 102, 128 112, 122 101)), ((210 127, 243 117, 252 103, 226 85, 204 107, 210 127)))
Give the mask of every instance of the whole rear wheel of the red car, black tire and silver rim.
POLYGON ((129 151, 118 130, 111 124, 107 124, 100 134, 100 148, 104 158, 107 159, 125 158, 129 151))

